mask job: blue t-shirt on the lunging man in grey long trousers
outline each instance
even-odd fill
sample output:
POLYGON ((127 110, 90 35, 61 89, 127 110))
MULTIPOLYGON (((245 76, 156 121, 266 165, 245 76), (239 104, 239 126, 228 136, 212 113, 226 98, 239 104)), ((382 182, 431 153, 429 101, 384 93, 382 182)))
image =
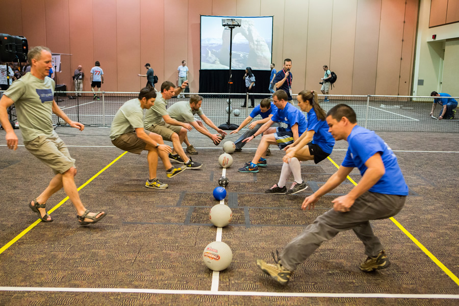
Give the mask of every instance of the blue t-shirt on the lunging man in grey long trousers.
POLYGON ((386 173, 369 189, 371 192, 408 195, 408 186, 398 166, 392 149, 373 131, 355 125, 347 137, 349 147, 341 164, 343 167, 357 167, 363 176, 367 171, 365 162, 377 152, 381 154, 386 173))

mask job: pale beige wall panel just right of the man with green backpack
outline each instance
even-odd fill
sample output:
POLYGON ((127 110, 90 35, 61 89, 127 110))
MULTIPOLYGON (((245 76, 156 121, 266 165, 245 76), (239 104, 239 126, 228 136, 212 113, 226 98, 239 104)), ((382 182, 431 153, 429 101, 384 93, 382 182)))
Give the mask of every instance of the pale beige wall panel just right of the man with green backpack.
MULTIPOLYGON (((330 90, 331 94, 352 93, 352 69, 354 65, 355 22, 357 0, 335 1, 331 29, 331 71, 339 74, 339 82, 330 90)), ((320 84, 317 84, 320 86, 320 84)), ((317 88, 314 84, 314 88, 317 88)), ((320 88, 318 88, 320 89, 320 88)))

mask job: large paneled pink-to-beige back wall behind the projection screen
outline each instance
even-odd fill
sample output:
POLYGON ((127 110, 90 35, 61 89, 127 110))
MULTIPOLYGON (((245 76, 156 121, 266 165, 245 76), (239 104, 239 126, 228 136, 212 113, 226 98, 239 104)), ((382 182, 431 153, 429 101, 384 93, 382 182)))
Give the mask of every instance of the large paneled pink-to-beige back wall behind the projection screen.
MULTIPOLYGON (((105 72, 106 91, 137 91, 151 63, 160 82, 188 61, 199 84, 199 15, 274 16, 273 62, 293 61, 293 91, 319 90, 326 64, 332 94, 409 94, 418 0, 0 0, 0 29, 29 45, 72 54, 72 67, 105 72)), ((74 68, 73 68, 74 69, 74 68)), ((89 90, 89 81, 84 90, 89 90)))

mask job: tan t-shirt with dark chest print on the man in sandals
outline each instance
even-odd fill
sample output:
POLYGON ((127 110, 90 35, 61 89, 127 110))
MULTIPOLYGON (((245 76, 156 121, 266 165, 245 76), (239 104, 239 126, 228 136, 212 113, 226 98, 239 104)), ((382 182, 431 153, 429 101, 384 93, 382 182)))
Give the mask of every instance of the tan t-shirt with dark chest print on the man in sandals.
POLYGON ((5 95, 14 101, 17 120, 24 141, 39 136, 57 137, 51 118, 53 111, 54 80, 40 80, 26 73, 13 82, 5 95))

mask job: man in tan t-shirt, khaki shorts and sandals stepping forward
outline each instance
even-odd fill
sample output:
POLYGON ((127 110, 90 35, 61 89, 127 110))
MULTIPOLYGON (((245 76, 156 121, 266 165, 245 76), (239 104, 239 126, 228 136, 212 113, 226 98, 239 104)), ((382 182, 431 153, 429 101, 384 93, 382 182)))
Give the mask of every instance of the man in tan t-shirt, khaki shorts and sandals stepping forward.
POLYGON ((29 207, 37 213, 41 221, 53 221, 46 211, 46 201, 64 187, 65 193, 77 209, 80 225, 96 223, 107 214, 90 213, 81 202, 74 182, 74 176, 77 174, 75 160, 71 158, 64 142, 54 131, 51 113, 80 131, 83 131, 85 126, 70 120, 53 98, 55 83, 47 77, 49 69, 52 68, 51 51, 46 47, 33 47, 27 57, 32 67, 31 71, 13 82, 4 93, 0 100, 0 122, 6 131, 8 148, 16 150, 18 139, 7 114, 7 108, 14 103, 25 148, 55 173, 48 187, 29 203, 29 207))

